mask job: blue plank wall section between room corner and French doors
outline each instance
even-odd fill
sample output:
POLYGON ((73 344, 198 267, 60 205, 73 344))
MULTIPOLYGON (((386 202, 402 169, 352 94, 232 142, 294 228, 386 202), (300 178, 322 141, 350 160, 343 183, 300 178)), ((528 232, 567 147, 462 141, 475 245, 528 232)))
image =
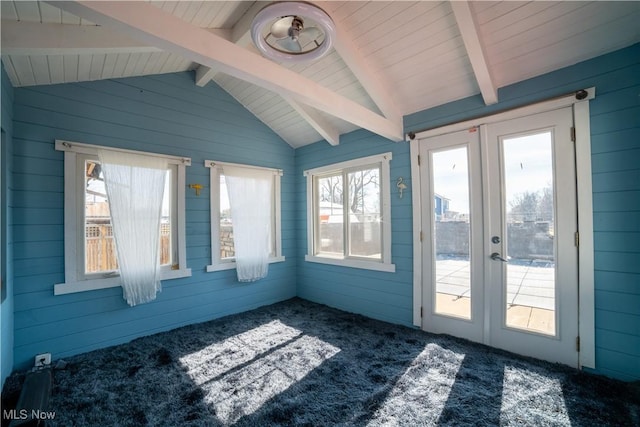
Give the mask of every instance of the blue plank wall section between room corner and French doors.
POLYGON ((394 143, 365 130, 343 135, 338 146, 330 146, 323 141, 296 150, 298 296, 376 319, 411 325, 411 194, 407 190, 400 199, 395 186, 396 180, 403 177, 411 188, 410 167, 407 143, 394 143), (307 190, 303 172, 389 151, 393 153, 391 182, 386 184, 391 185, 391 252, 396 272, 376 272, 304 261, 304 255, 307 254, 307 190))

